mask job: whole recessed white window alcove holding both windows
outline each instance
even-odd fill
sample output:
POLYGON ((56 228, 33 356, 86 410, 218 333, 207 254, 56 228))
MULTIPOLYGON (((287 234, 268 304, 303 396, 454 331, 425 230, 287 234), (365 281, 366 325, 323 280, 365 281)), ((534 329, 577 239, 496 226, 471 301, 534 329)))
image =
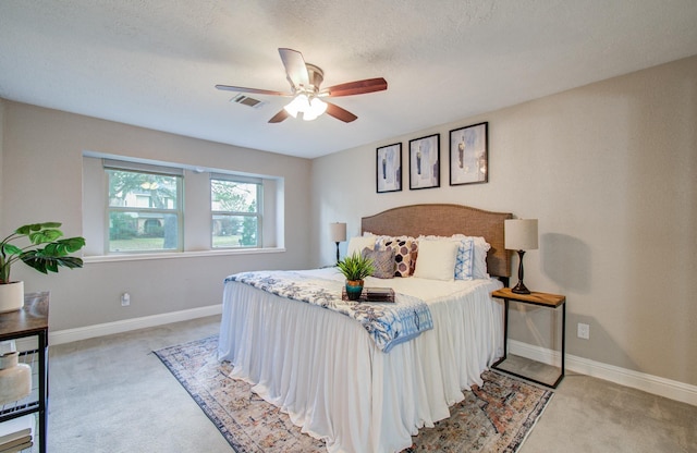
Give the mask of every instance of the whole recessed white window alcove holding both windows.
POLYGON ((85 257, 283 250, 283 177, 93 151, 83 157, 85 257))

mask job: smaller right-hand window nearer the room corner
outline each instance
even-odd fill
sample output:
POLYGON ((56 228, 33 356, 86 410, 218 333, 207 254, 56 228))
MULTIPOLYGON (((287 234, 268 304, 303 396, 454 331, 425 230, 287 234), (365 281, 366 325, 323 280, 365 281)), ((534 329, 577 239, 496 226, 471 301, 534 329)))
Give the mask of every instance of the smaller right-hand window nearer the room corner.
POLYGON ((262 182, 212 173, 210 211, 212 248, 260 248, 262 182))

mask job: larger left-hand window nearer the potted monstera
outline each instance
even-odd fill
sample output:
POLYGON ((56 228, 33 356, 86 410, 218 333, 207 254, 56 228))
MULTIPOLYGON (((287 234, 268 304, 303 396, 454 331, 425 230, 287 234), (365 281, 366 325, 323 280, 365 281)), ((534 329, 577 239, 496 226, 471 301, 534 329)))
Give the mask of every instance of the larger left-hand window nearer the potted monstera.
POLYGON ((109 253, 182 250, 182 174, 157 170, 105 160, 109 253))

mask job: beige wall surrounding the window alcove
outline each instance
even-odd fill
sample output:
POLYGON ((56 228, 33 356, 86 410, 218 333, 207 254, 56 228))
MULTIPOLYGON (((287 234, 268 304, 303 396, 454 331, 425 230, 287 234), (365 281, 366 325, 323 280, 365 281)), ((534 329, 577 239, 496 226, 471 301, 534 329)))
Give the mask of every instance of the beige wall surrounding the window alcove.
POLYGON ((284 179, 285 253, 87 262, 42 276, 25 266, 13 278, 27 292, 51 292, 52 331, 219 304, 222 281, 253 269, 307 268, 307 159, 227 146, 38 107, 4 101, 2 223, 56 220, 66 235, 83 229, 83 151, 227 169, 284 179), (122 292, 131 306, 121 307, 122 292))

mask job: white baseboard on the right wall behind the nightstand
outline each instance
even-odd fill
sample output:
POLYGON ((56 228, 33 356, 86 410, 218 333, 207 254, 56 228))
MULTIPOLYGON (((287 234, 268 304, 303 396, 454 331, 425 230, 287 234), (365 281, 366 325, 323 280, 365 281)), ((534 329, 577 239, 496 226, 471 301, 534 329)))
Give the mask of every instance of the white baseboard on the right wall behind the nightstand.
MULTIPOLYGON (((509 353, 548 365, 559 366, 561 362, 559 351, 551 351, 515 340, 509 340, 509 353)), ((566 354, 565 366, 570 371, 604 379, 621 385, 697 406, 697 385, 620 368, 571 354, 566 354)))

